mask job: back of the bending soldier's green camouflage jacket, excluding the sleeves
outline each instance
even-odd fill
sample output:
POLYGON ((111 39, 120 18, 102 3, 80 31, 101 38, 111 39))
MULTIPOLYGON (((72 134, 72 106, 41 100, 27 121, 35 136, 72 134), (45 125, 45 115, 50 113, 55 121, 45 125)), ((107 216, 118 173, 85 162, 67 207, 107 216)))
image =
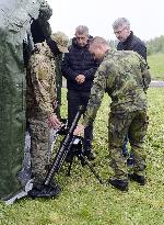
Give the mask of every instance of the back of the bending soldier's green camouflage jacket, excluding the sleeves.
POLYGON ((112 109, 122 112, 147 109, 140 56, 130 50, 116 50, 106 57, 106 61, 112 109))

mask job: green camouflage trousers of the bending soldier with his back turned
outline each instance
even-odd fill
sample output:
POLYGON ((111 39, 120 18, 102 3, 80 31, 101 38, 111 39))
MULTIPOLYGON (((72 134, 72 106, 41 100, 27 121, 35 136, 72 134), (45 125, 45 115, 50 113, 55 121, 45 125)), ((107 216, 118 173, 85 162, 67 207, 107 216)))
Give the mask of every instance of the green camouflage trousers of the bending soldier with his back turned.
POLYGON ((108 148, 114 178, 128 178, 127 161, 122 156, 122 146, 126 135, 129 137, 129 143, 133 153, 133 172, 144 175, 145 150, 143 148, 143 139, 149 124, 147 111, 134 111, 124 114, 114 114, 110 112, 108 124, 108 148))

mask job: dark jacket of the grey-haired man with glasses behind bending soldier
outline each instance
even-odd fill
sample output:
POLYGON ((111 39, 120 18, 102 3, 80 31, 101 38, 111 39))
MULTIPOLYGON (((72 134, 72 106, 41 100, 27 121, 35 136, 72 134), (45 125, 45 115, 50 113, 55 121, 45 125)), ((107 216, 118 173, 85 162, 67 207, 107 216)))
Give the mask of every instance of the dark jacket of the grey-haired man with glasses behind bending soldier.
POLYGON ((130 35, 125 42, 119 42, 117 45, 118 50, 133 50, 137 52, 147 60, 147 47, 145 44, 131 31, 130 35))

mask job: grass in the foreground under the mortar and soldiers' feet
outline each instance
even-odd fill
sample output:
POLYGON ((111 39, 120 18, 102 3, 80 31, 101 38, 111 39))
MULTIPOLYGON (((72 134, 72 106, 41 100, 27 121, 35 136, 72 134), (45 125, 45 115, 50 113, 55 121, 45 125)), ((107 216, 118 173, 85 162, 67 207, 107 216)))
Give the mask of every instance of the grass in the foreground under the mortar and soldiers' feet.
MULTIPOLYGON (((66 91, 63 91, 66 99, 66 91)), ((13 205, 0 203, 0 225, 163 225, 164 224, 164 89, 151 88, 150 125, 145 139, 148 183, 130 182, 122 193, 99 184, 89 168, 77 160, 71 177, 66 167, 57 177, 62 188, 55 200, 24 199, 13 205)), ((107 114, 105 95, 94 126, 94 168, 104 180, 112 175, 108 166, 107 114)), ((66 115, 66 105, 62 105, 66 115)))

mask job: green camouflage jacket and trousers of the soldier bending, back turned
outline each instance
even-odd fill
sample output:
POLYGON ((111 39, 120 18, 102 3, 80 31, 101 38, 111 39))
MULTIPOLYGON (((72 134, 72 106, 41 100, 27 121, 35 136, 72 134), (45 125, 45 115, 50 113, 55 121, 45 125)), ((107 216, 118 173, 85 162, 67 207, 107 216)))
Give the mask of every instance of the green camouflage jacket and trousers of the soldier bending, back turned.
POLYGON ((145 91, 150 81, 145 61, 137 53, 128 50, 107 52, 95 75, 83 124, 94 121, 106 91, 112 98, 108 148, 114 179, 127 179, 127 166, 121 151, 127 134, 134 155, 133 171, 141 176, 144 173, 143 137, 148 128, 145 91))

